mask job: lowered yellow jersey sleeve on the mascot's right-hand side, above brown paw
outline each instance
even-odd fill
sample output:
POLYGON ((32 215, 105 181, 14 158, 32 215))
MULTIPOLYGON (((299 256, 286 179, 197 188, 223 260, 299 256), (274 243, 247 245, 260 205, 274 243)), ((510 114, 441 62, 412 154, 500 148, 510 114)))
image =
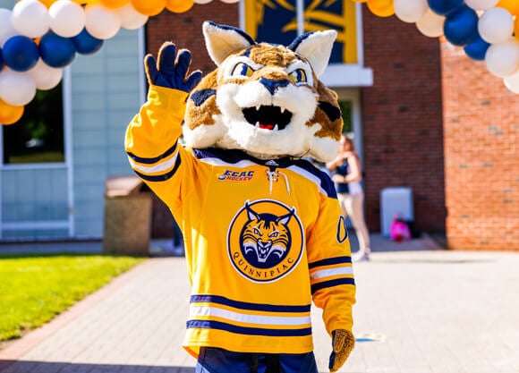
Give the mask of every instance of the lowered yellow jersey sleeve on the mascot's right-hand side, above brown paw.
POLYGON ((323 309, 328 331, 352 331, 355 282, 352 254, 345 219, 337 199, 321 196, 319 217, 307 241, 311 293, 314 304, 323 309))

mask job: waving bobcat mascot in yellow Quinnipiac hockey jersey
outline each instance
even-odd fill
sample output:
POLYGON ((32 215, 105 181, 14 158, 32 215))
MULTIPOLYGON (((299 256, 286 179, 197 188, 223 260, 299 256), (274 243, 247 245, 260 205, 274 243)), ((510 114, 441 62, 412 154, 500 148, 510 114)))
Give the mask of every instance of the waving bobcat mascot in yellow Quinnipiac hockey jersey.
POLYGON ((336 156, 343 126, 336 93, 319 81, 336 31, 288 47, 210 21, 203 35, 217 64, 203 79, 173 43, 146 56, 148 100, 125 141, 183 230, 183 347, 197 372, 317 373, 313 301, 336 371, 354 345, 351 250, 334 184, 311 163, 336 156))

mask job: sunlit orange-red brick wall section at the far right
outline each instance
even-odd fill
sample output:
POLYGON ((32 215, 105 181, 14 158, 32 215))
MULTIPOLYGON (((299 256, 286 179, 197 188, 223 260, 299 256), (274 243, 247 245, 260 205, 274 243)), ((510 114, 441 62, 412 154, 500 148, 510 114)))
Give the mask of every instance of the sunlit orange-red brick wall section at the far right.
POLYGON ((447 244, 519 251, 519 95, 442 43, 447 244))

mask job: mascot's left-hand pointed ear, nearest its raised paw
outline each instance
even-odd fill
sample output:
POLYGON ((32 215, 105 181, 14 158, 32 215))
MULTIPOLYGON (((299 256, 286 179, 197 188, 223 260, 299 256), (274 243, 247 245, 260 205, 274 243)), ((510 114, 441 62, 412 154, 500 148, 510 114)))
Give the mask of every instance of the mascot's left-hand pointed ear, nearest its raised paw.
POLYGON ((202 29, 209 57, 217 66, 235 50, 256 44, 249 35, 232 26, 218 25, 215 22, 205 21, 202 29))

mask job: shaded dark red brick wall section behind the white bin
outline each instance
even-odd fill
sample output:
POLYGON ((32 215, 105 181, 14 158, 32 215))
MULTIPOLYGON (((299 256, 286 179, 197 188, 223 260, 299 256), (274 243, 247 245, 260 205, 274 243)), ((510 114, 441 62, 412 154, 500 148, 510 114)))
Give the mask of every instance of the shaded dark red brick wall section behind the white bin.
POLYGON ((374 85, 362 89, 366 220, 380 230, 380 191, 413 190, 415 226, 445 232, 441 69, 438 38, 395 16, 363 9, 364 64, 374 85))

